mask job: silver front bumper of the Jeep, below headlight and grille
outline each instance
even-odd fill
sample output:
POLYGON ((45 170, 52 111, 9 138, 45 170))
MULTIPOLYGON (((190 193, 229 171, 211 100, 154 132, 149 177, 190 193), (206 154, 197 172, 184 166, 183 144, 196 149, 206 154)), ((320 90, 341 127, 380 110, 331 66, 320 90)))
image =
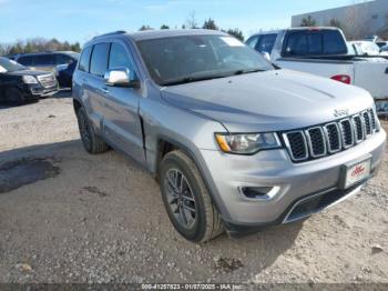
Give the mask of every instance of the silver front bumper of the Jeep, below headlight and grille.
POLYGON ((382 159, 386 138, 381 129, 351 149, 304 163, 293 163, 285 149, 248 157, 202 150, 201 168, 205 169, 210 191, 228 229, 279 224, 308 217, 359 191, 361 184, 347 191, 339 190, 341 167, 371 155, 374 172, 382 159), (242 193, 244 187, 276 187, 276 193, 264 199, 251 199, 242 193), (292 208, 302 199, 333 191, 337 191, 338 199, 328 200, 327 204, 306 212, 306 215, 287 219, 292 208))

